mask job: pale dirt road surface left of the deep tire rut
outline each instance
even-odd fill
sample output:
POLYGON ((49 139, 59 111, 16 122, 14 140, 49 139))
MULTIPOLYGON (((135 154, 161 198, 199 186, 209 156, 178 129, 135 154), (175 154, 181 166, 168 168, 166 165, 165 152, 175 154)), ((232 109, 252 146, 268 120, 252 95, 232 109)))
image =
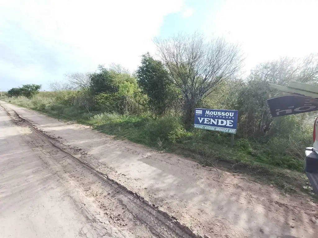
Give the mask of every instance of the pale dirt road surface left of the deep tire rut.
POLYGON ((117 194, 102 183, 0 108, 1 238, 154 237, 133 215, 120 218, 125 207, 117 199, 96 198, 96 193, 117 194), (116 219, 100 204, 109 206, 116 219))

